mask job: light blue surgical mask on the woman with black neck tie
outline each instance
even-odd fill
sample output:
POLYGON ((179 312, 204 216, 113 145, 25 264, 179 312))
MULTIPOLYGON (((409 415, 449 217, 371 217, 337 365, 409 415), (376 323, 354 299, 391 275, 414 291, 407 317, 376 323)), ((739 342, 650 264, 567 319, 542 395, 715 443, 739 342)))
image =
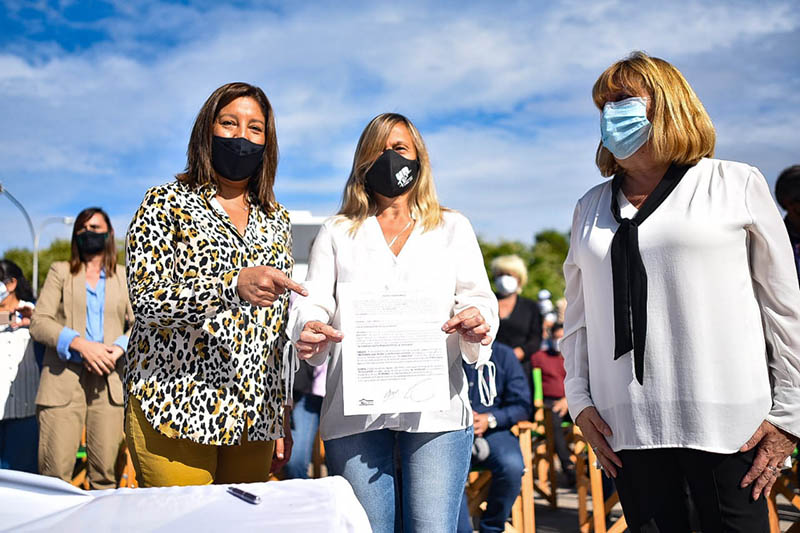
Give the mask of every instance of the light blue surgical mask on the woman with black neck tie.
POLYGON ((647 99, 635 96, 603 106, 600 135, 603 146, 617 159, 627 159, 650 138, 647 99))

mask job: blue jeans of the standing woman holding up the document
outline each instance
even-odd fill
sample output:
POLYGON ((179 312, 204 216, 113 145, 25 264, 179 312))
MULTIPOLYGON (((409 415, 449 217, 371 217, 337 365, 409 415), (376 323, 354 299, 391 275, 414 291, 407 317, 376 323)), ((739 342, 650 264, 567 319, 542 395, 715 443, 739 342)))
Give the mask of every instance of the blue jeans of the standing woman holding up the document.
POLYGON ((471 449, 471 426, 379 429, 325 441, 329 472, 350 482, 373 533, 455 531, 471 449))

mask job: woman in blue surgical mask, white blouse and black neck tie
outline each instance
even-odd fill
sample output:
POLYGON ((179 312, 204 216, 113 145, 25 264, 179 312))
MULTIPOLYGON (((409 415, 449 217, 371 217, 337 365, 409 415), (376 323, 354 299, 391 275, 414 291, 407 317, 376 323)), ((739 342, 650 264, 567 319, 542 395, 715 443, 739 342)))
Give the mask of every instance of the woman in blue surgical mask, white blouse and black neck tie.
POLYGON ((597 165, 579 201, 565 335, 569 410, 631 531, 768 531, 800 435, 800 292, 758 169, 711 159, 681 73, 636 52, 609 67, 597 165))

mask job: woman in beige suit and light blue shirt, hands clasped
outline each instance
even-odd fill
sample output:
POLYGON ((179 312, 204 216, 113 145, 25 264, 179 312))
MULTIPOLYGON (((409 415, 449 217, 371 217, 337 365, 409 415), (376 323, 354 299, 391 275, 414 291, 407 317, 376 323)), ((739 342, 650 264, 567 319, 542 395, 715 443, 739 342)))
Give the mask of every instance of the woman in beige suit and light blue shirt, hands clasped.
POLYGON ((123 440, 122 356, 133 310, 116 256, 108 215, 81 211, 72 257, 50 267, 31 321, 31 335, 47 347, 36 396, 39 472, 69 481, 85 426, 92 489, 116 486, 123 440))

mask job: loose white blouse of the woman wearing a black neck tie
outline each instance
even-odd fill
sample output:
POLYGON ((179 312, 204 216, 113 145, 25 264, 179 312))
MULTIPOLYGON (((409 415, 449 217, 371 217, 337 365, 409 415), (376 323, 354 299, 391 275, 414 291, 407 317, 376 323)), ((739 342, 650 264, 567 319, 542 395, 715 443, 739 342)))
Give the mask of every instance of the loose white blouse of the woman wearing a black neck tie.
MULTIPOLYGON (((800 435, 800 290, 764 177, 703 159, 639 227, 644 384, 614 360, 611 181, 578 202, 561 340, 573 419, 594 405, 614 450, 736 452, 763 420, 800 435)), ((620 195, 621 214, 636 208, 620 195)))

